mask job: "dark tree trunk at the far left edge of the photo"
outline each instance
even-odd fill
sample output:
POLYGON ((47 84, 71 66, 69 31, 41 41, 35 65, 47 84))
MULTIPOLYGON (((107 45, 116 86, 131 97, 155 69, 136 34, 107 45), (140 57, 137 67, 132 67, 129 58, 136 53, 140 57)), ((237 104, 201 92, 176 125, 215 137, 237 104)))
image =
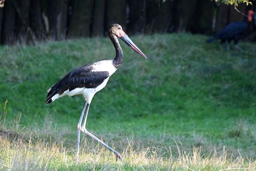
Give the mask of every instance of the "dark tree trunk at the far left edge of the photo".
POLYGON ((14 43, 14 27, 15 27, 16 13, 12 4, 12 0, 4 2, 3 16, 2 16, 2 32, 1 43, 14 43))

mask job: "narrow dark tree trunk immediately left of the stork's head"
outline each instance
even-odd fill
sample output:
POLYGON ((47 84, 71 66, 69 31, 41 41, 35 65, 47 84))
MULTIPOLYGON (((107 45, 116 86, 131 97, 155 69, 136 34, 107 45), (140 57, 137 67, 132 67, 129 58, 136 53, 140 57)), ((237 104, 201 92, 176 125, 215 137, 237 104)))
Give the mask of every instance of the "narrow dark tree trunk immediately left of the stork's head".
POLYGON ((103 36, 104 34, 104 19, 105 19, 105 0, 93 1, 92 14, 92 36, 103 36))

